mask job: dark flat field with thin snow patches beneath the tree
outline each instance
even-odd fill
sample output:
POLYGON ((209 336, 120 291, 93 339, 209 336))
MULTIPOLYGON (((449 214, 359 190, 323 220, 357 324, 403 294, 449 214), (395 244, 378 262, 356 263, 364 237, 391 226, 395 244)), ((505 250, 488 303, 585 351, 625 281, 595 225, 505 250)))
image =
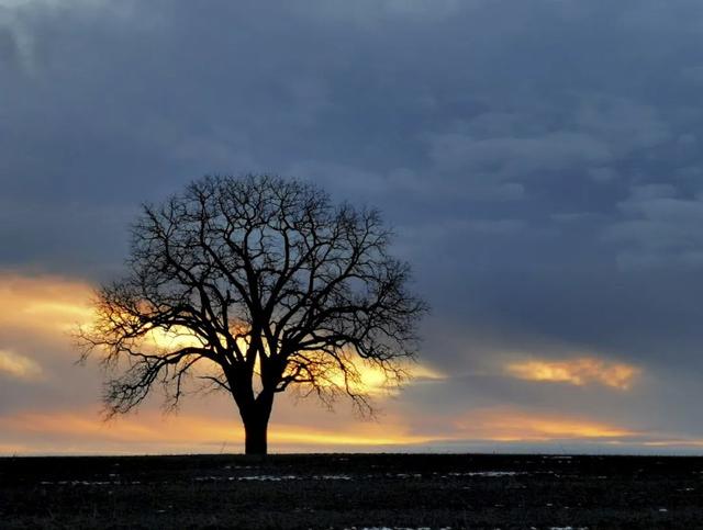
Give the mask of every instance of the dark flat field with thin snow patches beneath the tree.
POLYGON ((0 528, 703 528, 703 458, 0 459, 0 528))

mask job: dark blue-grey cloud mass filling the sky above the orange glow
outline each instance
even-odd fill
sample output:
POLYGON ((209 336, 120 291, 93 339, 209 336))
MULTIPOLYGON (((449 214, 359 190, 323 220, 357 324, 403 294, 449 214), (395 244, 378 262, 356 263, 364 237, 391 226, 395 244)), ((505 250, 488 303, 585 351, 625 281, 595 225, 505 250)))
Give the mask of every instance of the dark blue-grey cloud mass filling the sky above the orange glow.
POLYGON ((468 377, 435 396, 548 406, 469 374, 587 352, 650 377, 612 415, 698 401, 702 31, 693 0, 0 0, 0 266, 107 278, 142 201, 276 171, 397 227, 425 359, 468 377))

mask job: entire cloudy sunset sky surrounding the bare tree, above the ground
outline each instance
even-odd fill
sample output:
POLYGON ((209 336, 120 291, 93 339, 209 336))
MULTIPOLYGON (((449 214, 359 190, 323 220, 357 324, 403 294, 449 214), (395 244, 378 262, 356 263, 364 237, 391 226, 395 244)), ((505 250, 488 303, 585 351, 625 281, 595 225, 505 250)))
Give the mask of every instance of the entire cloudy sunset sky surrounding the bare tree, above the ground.
POLYGON ((69 331, 207 173, 378 206, 432 305, 379 415, 270 449, 703 452, 699 0, 0 0, 0 454, 241 451, 226 396, 100 419, 69 331))

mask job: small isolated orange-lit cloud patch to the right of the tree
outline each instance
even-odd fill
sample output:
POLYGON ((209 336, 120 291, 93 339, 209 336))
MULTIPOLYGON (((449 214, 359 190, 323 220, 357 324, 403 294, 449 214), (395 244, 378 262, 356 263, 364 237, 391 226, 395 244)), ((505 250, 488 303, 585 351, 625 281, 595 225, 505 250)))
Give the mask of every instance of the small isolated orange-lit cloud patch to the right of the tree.
POLYGON ((563 361, 527 360, 509 363, 505 371, 526 381, 547 381, 584 386, 599 383, 618 390, 628 390, 639 369, 625 363, 606 362, 591 357, 563 361))

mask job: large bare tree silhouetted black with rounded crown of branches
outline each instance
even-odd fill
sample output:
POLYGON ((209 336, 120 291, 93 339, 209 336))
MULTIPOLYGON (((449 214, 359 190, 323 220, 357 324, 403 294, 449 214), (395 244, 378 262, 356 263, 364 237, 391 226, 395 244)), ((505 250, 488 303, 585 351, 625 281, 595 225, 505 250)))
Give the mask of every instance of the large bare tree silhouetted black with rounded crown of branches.
POLYGON ((96 352, 105 368, 109 415, 158 385, 169 407, 223 390, 246 453, 265 454, 279 392, 347 394, 370 411, 362 364, 400 381, 426 309, 390 240, 377 211, 277 177, 207 177, 145 205, 126 277, 98 291, 78 337, 81 359, 96 352))

